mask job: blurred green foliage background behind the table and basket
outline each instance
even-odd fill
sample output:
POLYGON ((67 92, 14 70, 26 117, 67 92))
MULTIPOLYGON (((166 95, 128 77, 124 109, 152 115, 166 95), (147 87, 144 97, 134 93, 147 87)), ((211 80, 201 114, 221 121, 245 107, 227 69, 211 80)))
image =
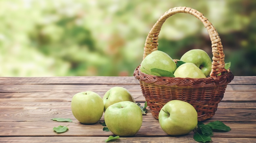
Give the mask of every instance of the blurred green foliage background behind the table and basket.
MULTIPOLYGON (((170 8, 199 10, 218 31, 235 76, 256 75, 254 0, 1 0, 0 76, 132 76, 147 34, 170 8)), ((164 23, 159 50, 173 59, 211 41, 189 14, 164 23)))

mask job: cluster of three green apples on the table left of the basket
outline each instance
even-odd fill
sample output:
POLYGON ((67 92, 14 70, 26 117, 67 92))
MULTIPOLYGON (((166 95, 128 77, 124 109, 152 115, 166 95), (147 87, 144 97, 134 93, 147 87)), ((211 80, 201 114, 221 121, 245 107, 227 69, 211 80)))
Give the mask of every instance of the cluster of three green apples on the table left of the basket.
POLYGON ((118 136, 133 136, 142 125, 142 113, 124 87, 112 87, 103 98, 93 91, 76 93, 71 100, 74 117, 83 124, 97 123, 103 113, 108 129, 118 136))

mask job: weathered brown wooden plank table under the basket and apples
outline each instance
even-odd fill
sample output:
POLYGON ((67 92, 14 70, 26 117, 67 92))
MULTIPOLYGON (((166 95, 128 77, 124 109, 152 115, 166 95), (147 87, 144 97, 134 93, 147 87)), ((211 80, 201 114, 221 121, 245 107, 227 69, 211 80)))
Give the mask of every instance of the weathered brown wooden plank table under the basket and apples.
MULTIPOLYGON (((128 89, 137 103, 144 105, 139 81, 134 77, 0 77, 0 142, 104 142, 111 132, 99 123, 84 125, 71 112, 71 99, 81 91, 94 91, 101 97, 111 87, 128 89), (74 122, 57 122, 70 118, 74 122), (69 124, 57 134, 53 127, 69 124)), ((212 142, 256 142, 256 76, 235 77, 228 84, 216 114, 203 121, 220 120, 231 128, 215 132, 212 142)), ((147 109, 134 137, 116 142, 196 142, 194 133, 167 135, 147 109)), ((104 115, 100 119, 104 121, 104 115)))

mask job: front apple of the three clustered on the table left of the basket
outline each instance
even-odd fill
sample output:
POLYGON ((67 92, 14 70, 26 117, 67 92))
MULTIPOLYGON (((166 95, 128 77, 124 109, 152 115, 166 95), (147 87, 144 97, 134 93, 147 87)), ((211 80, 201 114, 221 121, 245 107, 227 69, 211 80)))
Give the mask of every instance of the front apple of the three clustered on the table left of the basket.
POLYGON ((133 136, 142 125, 142 114, 139 106, 130 101, 110 105, 104 114, 108 129, 118 136, 133 136))

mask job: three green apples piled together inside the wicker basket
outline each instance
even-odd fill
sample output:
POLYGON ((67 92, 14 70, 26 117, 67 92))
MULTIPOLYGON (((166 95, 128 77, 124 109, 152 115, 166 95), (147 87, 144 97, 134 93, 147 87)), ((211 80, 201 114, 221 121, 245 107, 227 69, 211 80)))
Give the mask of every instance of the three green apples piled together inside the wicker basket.
POLYGON ((208 54, 200 49, 186 52, 179 66, 162 51, 153 51, 140 64, 140 71, 149 75, 205 78, 210 75, 212 62, 208 54))

